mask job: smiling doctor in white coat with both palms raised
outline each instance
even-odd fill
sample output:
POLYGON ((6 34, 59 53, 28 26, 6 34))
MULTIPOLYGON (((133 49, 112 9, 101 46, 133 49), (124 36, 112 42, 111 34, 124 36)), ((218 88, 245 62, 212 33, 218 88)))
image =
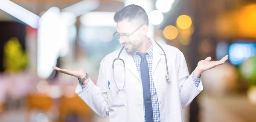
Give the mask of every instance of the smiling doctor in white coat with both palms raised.
POLYGON ((207 57, 189 75, 180 50, 147 37, 148 15, 142 7, 126 6, 114 21, 113 36, 124 47, 102 59, 96 85, 83 69, 53 68, 77 77, 76 94, 110 122, 182 122, 182 109, 203 90, 201 73, 228 56, 220 61, 207 57))

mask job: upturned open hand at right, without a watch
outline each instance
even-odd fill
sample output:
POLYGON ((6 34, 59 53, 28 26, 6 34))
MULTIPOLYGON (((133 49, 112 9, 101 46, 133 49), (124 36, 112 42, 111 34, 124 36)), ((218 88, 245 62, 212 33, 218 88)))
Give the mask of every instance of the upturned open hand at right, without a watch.
POLYGON ((224 64, 225 61, 228 59, 228 55, 224 56, 221 60, 219 61, 210 61, 212 58, 209 56, 205 58, 204 60, 201 60, 198 62, 198 66, 195 68, 193 75, 196 78, 199 78, 201 73, 208 70, 212 69, 214 67, 217 67, 221 64, 224 64))

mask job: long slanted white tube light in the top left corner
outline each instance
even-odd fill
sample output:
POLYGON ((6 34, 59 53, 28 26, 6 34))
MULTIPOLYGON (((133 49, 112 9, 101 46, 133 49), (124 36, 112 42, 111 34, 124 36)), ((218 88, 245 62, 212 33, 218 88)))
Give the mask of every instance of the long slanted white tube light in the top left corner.
POLYGON ((17 5, 16 3, 13 3, 10 0, 0 0, 0 9, 26 23, 32 28, 38 28, 38 21, 40 17, 17 5))

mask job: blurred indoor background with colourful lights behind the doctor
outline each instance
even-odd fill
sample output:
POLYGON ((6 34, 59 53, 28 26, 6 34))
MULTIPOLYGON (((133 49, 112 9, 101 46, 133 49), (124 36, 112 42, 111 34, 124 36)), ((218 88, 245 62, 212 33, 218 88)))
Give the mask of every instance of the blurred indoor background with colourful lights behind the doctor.
POLYGON ((75 94, 77 78, 52 66, 83 68, 122 47, 113 16, 136 4, 148 37, 183 52, 191 73, 211 56, 225 64, 202 74, 204 90, 184 122, 256 122, 255 0, 0 0, 0 122, 108 122, 75 94))

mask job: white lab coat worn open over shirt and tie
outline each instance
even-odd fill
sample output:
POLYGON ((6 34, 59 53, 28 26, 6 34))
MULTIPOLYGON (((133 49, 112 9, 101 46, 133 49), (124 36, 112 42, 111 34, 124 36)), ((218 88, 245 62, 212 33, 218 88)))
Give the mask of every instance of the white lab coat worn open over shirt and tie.
MULTIPOLYGON (((154 42, 154 41, 153 41, 154 42)), ((153 81, 157 91, 161 122, 182 122, 182 109, 203 90, 202 81, 196 87, 189 75, 184 55, 176 47, 161 44, 166 53, 171 82, 167 82, 166 63, 163 51, 153 44, 153 81)), ((117 91, 113 80, 112 62, 117 58, 116 50, 102 59, 96 85, 89 79, 88 86, 82 89, 78 84, 76 94, 100 117, 109 116, 110 122, 144 122, 143 88, 140 75, 131 55, 122 50, 120 58, 125 61, 125 89, 117 91), (111 85, 108 87, 108 81, 111 85)), ((120 60, 118 60, 120 61, 120 60)), ((118 61, 115 62, 118 63, 118 61)), ((119 71, 120 73, 123 72, 119 71)), ((119 79, 117 79, 119 80, 119 79)), ((119 89, 122 81, 117 81, 119 89)))

